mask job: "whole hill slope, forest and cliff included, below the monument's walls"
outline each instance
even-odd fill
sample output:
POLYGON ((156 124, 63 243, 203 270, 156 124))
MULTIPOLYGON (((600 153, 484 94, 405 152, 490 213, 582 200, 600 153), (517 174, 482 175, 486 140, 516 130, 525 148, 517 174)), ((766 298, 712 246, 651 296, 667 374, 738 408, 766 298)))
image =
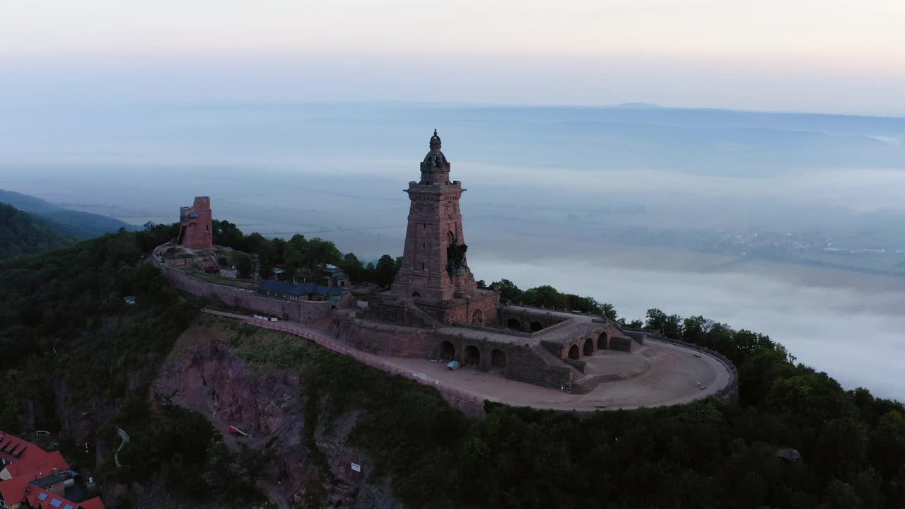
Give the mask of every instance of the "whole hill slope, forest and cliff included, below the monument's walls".
POLYGON ((97 476, 110 507, 150 507, 142 494, 152 493, 219 506, 269 497, 283 507, 905 500, 905 408, 842 389, 765 336, 659 310, 643 323, 727 355, 739 370, 738 406, 707 399, 579 418, 488 404, 485 418, 469 418, 431 388, 296 336, 202 318, 203 301, 176 293, 145 262, 172 230, 0 264, 0 422, 51 431, 97 476), (227 426, 251 437, 224 434, 227 426), (122 468, 112 460, 116 427, 131 437, 122 468), (783 459, 787 449, 802 460, 783 459))

